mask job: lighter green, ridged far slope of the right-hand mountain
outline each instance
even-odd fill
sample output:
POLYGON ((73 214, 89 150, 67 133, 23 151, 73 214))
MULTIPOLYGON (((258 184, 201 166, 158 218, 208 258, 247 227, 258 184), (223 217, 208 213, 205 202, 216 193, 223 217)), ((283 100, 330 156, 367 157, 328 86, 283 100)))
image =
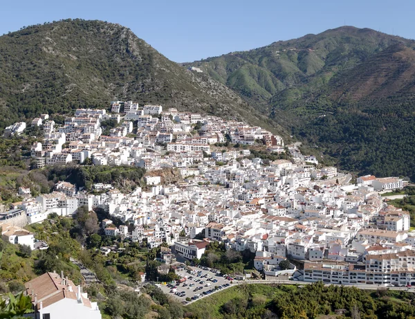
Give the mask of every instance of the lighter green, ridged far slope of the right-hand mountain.
POLYGON ((281 95, 289 104, 308 91, 318 93, 333 76, 396 44, 415 46, 411 40, 345 26, 190 65, 252 100, 268 103, 281 95))

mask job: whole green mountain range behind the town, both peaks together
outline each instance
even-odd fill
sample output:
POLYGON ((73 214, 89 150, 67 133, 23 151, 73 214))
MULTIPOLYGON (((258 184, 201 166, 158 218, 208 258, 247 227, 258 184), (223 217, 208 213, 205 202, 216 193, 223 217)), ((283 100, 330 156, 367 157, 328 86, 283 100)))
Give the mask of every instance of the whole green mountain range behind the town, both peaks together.
POLYGON ((292 135, 344 170, 415 181, 414 48, 344 26, 179 65, 118 24, 30 26, 0 37, 0 129, 110 100, 160 103, 292 135))

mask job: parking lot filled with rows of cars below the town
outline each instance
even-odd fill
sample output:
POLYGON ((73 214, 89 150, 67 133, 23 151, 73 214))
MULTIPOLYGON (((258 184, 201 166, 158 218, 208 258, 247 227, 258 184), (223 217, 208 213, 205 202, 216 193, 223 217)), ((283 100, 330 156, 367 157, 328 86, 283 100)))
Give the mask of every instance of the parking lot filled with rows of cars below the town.
POLYGON ((226 279, 223 275, 219 275, 210 268, 193 267, 195 273, 188 273, 186 270, 178 271, 177 275, 187 277, 187 280, 181 284, 173 284, 172 286, 161 285, 160 289, 167 295, 172 295, 182 303, 187 303, 186 298, 190 298, 193 302, 207 295, 220 291, 232 286, 231 280, 226 279), (177 290, 175 290, 177 289, 177 290))

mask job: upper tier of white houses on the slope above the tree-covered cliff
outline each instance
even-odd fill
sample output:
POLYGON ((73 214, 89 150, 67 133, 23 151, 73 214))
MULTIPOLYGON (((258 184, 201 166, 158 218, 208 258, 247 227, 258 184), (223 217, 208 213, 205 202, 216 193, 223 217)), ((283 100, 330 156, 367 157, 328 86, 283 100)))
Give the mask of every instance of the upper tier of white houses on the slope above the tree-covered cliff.
POLYGON ((95 165, 136 165, 147 170, 187 167, 201 161, 203 152, 210 154, 210 145, 225 143, 225 136, 241 145, 261 140, 270 152, 284 152, 282 138, 261 127, 173 108, 163 111, 160 105, 139 107, 131 101, 111 102, 111 113, 105 109, 77 109, 60 127, 53 120, 42 122, 39 118, 39 122, 43 123, 44 140, 31 149, 37 168, 83 163, 86 158, 95 165), (115 121, 116 127, 104 136, 101 124, 108 120, 115 121), (195 131, 198 123, 200 129, 195 131), (163 149, 167 154, 158 152, 163 149))

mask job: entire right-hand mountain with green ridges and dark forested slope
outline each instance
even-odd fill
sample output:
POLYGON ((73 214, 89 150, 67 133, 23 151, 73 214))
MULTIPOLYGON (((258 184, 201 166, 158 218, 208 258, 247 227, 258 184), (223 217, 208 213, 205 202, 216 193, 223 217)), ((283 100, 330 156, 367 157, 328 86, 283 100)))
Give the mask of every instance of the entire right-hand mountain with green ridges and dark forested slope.
POLYGON ((415 42, 344 26, 196 66, 341 168, 415 179, 415 42))

